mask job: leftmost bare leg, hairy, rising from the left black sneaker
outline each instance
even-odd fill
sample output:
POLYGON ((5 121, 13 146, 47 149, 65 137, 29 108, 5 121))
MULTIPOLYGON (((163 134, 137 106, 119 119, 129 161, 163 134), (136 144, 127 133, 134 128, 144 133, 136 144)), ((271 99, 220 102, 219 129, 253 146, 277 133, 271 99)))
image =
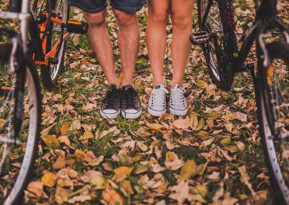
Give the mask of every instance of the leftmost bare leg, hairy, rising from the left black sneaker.
POLYGON ((91 46, 99 65, 105 73, 108 84, 117 84, 119 86, 114 66, 113 48, 106 28, 106 10, 96 14, 84 12, 84 16, 89 24, 88 35, 91 46))

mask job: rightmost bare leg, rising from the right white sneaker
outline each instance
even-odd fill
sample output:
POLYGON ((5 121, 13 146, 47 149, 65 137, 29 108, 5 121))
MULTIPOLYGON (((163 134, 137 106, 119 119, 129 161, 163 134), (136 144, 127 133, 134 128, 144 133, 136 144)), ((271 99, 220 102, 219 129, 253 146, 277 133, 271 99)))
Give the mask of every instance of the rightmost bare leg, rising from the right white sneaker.
POLYGON ((182 86, 185 69, 191 51, 193 0, 171 0, 170 17, 172 21, 172 81, 182 86))

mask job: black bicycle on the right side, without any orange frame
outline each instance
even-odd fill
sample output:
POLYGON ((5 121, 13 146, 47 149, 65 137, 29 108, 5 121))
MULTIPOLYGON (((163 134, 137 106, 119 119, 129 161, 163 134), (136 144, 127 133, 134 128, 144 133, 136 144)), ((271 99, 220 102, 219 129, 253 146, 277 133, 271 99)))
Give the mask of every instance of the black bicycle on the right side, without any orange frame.
MULTIPOLYGON (((257 3, 257 0, 255 0, 257 3)), ((262 0, 251 26, 237 48, 231 0, 198 0, 200 32, 193 45, 205 54, 212 81, 228 91, 236 73, 249 70, 255 88, 259 133, 276 199, 289 205, 289 30, 276 16, 276 0, 262 0), (268 31, 282 33, 284 40, 268 43, 268 31), (244 64, 256 42, 257 70, 244 64)), ((279 38, 278 36, 275 36, 279 38)))

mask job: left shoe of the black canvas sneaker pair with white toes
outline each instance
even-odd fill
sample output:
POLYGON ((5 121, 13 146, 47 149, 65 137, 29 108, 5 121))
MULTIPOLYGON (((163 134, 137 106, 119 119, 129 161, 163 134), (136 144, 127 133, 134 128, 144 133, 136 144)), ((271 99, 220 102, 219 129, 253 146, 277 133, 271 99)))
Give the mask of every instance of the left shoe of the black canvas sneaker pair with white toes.
POLYGON ((100 114, 103 118, 115 119, 120 114, 121 92, 117 85, 109 86, 105 98, 102 101, 100 114))

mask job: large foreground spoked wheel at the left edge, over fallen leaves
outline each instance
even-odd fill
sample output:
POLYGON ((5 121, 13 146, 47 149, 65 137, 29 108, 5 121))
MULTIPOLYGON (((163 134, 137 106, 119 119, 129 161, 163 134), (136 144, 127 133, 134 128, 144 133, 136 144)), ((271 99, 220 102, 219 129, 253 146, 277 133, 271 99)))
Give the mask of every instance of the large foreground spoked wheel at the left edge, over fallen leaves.
POLYGON ((32 66, 17 73, 8 75, 5 66, 0 65, 0 204, 3 205, 22 204, 19 199, 29 182, 40 136, 38 76, 32 66))

